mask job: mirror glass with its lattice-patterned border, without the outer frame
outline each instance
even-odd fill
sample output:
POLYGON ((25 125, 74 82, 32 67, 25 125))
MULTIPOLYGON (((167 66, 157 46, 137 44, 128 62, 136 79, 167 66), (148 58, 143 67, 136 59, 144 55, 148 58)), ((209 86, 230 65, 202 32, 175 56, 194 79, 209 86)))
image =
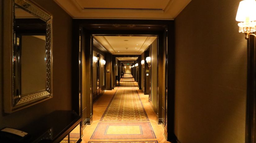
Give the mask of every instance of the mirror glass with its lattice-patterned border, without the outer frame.
POLYGON ((15 0, 13 106, 51 97, 51 17, 15 0))

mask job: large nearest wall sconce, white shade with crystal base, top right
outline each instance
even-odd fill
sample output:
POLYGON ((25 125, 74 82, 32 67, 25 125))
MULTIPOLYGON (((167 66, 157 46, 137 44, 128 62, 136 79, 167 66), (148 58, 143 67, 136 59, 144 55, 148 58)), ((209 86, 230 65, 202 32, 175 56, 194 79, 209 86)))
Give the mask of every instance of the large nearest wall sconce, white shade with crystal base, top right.
POLYGON ((245 39, 249 38, 249 35, 256 35, 256 1, 255 0, 243 0, 239 3, 239 7, 236 14, 236 21, 239 26, 239 32, 245 33, 245 39))

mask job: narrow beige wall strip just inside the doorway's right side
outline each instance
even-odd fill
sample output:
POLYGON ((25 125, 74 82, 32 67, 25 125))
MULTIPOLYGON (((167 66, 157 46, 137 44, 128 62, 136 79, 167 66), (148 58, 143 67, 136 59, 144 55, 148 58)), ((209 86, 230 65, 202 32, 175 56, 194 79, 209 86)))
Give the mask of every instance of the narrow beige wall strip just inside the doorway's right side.
POLYGON ((151 101, 157 107, 157 39, 151 44, 151 101))

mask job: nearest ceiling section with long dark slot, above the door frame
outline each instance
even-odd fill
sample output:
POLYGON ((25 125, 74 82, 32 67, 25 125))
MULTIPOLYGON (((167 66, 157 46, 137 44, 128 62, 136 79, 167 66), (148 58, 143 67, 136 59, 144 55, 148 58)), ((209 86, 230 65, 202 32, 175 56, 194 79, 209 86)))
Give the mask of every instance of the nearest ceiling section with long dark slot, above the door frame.
POLYGON ((174 19, 191 0, 54 0, 73 18, 174 19))

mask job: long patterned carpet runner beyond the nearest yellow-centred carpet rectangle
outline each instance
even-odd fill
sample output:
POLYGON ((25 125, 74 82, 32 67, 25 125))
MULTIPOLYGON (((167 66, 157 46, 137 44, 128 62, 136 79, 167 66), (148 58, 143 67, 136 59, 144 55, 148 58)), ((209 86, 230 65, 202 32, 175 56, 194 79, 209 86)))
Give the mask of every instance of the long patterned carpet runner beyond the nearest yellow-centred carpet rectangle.
POLYGON ((101 121, 149 121, 133 81, 124 76, 101 121))

